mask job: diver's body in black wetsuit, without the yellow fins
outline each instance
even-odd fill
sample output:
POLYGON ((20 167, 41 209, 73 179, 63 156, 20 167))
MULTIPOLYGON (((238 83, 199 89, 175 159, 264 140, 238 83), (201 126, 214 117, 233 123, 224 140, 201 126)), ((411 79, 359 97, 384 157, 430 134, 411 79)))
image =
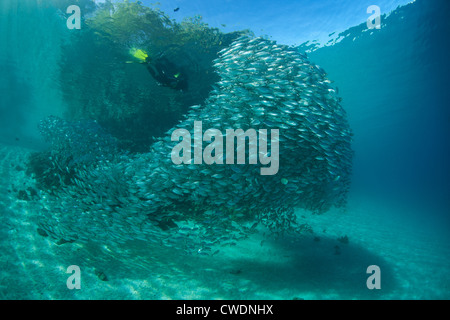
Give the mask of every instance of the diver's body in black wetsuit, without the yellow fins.
POLYGON ((188 81, 183 68, 170 62, 166 57, 159 57, 147 62, 147 70, 163 86, 186 91, 188 81))

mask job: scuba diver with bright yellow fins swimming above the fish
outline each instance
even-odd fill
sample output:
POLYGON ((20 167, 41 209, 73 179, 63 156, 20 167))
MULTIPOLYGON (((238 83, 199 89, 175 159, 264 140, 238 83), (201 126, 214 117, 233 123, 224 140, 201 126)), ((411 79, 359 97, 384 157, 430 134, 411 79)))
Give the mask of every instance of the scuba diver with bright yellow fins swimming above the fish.
POLYGON ((188 89, 187 75, 184 69, 169 61, 163 54, 152 58, 144 50, 134 48, 130 50, 130 53, 139 60, 139 63, 147 66, 147 70, 158 84, 174 90, 186 91, 188 89))

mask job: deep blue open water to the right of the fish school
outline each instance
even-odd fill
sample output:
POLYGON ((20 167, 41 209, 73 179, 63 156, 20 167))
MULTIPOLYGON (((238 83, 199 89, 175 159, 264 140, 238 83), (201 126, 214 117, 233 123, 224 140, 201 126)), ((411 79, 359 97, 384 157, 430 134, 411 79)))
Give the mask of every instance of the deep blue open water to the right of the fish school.
POLYGON ((380 30, 351 28, 311 59, 336 81, 355 132, 354 192, 423 200, 440 207, 448 226, 450 69, 443 33, 449 25, 443 8, 445 2, 411 3, 384 18, 380 30))

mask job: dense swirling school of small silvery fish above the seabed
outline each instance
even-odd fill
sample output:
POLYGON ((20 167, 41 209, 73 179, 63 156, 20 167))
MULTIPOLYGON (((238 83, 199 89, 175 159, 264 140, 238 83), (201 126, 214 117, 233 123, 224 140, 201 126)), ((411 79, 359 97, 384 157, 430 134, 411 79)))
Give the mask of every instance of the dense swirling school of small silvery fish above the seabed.
MULTIPOLYGON (((249 36, 219 52, 214 67, 221 80, 208 99, 192 106, 148 153, 91 156, 67 168, 71 183, 44 197, 40 228, 66 241, 143 240, 213 255, 217 245, 233 245, 259 224, 274 233, 307 229, 294 208, 322 213, 344 206, 352 132, 324 70, 293 48, 249 36), (262 165, 248 159, 175 165, 171 134, 192 132, 194 121, 222 132, 279 129, 279 171, 261 175, 262 165)), ((45 122, 48 140, 67 136, 67 127, 51 125, 56 121, 45 122)), ((95 138, 104 145, 97 154, 115 150, 105 143, 110 137, 95 138)), ((78 139, 76 148, 87 148, 78 139)))

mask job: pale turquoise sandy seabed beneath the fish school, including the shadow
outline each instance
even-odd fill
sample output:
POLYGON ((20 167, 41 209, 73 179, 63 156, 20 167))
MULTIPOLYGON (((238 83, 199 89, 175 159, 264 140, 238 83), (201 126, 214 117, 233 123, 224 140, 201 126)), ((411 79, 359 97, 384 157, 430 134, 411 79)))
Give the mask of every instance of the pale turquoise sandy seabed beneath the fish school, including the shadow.
POLYGON ((313 234, 261 231, 214 256, 143 241, 57 245, 36 231, 39 204, 17 199, 31 186, 29 152, 0 146, 1 299, 450 298, 447 226, 370 197, 323 215, 298 211, 313 234), (70 265, 80 267, 79 290, 67 288, 70 265), (380 267, 379 290, 367 288, 370 265, 380 267))

